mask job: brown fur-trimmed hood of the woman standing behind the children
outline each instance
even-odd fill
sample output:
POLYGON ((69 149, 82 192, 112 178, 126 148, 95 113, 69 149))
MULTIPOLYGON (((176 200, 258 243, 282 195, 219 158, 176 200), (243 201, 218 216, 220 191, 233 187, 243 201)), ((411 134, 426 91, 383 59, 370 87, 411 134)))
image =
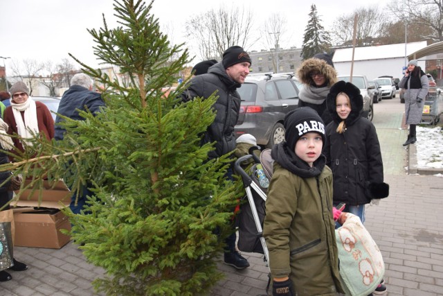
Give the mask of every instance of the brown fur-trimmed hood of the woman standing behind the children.
POLYGON ((297 76, 300 82, 305 85, 314 85, 314 80, 312 80, 310 76, 313 71, 320 72, 325 76, 328 87, 332 87, 332 85, 337 82, 337 72, 334 67, 319 58, 309 58, 305 60, 305 62, 302 62, 297 70, 297 76))

